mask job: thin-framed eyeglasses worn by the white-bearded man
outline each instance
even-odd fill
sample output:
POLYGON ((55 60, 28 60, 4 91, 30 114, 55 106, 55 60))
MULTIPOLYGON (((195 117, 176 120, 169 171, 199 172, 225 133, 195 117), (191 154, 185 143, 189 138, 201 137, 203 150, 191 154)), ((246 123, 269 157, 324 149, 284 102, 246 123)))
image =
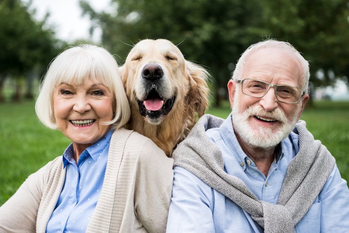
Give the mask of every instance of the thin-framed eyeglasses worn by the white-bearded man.
POLYGON ((305 92, 299 87, 275 85, 256 79, 246 78, 243 80, 237 80, 236 82, 241 83, 242 93, 257 98, 262 98, 267 94, 270 87, 274 87, 276 99, 283 103, 298 103, 305 94, 305 92))

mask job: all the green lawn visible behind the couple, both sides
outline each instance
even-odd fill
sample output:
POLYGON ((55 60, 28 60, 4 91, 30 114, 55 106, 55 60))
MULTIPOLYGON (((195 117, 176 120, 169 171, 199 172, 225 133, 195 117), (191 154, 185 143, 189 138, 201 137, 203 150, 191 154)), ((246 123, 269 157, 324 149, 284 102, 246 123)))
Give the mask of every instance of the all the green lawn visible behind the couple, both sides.
MULTIPOLYGON (((229 103, 208 113, 226 118, 229 103)), ((302 119, 335 156, 342 177, 349 181, 349 102, 316 102, 302 119)), ((0 104, 0 142, 0 205, 29 174, 60 156, 70 143, 59 131, 38 122, 32 101, 0 104)))

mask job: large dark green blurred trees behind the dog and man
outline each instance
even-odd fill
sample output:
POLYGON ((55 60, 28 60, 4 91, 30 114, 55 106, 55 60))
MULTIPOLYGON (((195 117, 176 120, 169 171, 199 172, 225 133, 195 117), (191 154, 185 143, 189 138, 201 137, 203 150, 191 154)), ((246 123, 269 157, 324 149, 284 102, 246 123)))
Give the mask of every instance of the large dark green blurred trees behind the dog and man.
POLYGON ((348 0, 111 0, 108 12, 80 5, 120 63, 139 39, 178 44, 186 59, 209 67, 217 104, 240 54, 267 37, 291 42, 311 60, 315 86, 348 74, 348 0))

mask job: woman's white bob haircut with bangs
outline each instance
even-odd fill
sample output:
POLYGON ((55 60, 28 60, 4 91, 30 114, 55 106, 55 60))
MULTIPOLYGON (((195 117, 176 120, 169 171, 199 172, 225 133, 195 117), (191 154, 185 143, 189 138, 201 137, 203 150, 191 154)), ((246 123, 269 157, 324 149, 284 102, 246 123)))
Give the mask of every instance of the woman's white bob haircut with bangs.
POLYGON ((105 124, 112 125, 113 129, 124 126, 130 119, 131 111, 118 64, 106 49, 88 44, 70 47, 51 61, 35 103, 36 115, 41 123, 50 129, 58 129, 53 114, 53 92, 57 85, 79 85, 89 78, 107 86, 114 95, 114 118, 105 124))

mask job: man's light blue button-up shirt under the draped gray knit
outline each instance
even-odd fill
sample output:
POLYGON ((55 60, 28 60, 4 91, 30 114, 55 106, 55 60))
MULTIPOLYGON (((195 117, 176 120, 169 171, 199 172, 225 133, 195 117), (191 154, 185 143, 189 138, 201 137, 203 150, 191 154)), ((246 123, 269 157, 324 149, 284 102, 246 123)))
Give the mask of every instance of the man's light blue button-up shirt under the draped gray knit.
MULTIPOLYGON (((225 172, 240 178, 261 201, 276 204, 289 162, 298 153, 298 135, 281 142, 267 177, 242 151, 230 116, 206 135, 220 148, 225 172)), ((187 170, 174 168, 167 233, 254 233, 264 230, 251 216, 187 170)), ((314 204, 296 225, 297 233, 348 233, 349 189, 337 166, 314 204)))

